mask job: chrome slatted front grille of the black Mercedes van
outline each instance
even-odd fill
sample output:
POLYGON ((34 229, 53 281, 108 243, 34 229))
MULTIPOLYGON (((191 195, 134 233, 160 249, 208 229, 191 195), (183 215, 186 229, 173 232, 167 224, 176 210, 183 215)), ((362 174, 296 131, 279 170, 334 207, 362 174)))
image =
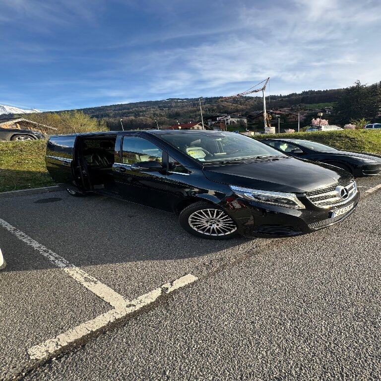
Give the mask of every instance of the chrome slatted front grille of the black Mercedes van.
POLYGON ((306 193, 307 198, 319 208, 329 208, 331 206, 337 206, 345 204, 350 201, 357 193, 357 186, 354 180, 345 183, 338 183, 328 188, 318 189, 306 193), (348 191, 348 196, 342 198, 337 191, 337 187, 344 187, 348 191))

